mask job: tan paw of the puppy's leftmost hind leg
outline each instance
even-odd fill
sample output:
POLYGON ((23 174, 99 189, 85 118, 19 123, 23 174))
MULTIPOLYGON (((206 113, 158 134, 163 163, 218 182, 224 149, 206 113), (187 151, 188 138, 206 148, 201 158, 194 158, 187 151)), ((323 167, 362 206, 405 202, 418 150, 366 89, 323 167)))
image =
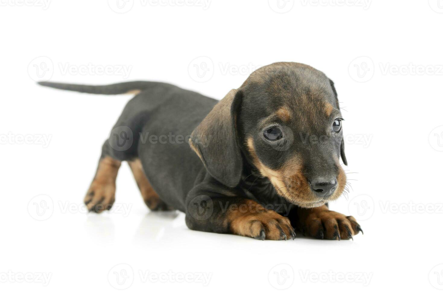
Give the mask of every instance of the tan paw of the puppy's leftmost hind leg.
POLYGON ((84 202, 89 212, 101 213, 111 209, 115 201, 115 183, 94 180, 86 193, 84 202))

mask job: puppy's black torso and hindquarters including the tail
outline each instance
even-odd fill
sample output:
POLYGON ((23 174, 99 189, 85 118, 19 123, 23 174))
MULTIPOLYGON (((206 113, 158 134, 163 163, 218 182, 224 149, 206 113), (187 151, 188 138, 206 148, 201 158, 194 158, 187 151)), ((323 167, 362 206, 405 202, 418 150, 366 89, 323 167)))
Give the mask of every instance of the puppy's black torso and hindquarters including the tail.
MULTIPOLYGON (((217 100, 159 82, 134 81, 105 86, 39 84, 91 94, 135 94, 113 126, 103 145, 103 154, 120 162, 140 160, 154 191, 167 205, 184 211, 186 194, 198 175, 203 178, 205 173, 188 140, 217 100)), ((209 138, 201 140, 210 141, 209 138)))

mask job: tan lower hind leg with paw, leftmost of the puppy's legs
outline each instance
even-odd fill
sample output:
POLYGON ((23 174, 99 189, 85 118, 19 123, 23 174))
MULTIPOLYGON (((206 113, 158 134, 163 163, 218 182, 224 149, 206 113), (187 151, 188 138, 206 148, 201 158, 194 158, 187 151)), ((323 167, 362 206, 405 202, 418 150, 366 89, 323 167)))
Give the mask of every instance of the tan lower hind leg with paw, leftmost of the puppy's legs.
POLYGON ((97 173, 84 198, 87 209, 101 213, 111 209, 115 201, 115 181, 121 162, 106 156, 98 162, 97 173))

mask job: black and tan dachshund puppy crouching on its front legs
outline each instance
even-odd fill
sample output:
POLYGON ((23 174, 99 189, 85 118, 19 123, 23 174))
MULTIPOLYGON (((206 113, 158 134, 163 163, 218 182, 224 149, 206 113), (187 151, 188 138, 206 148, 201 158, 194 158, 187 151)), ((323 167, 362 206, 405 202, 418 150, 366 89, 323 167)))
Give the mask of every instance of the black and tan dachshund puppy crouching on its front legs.
POLYGON ((186 213, 190 229, 270 240, 294 238, 293 227, 331 240, 361 231, 327 206, 346 186, 342 115, 334 83, 312 67, 261 67, 221 101, 156 82, 40 84, 136 94, 103 145, 90 211, 111 208, 128 161, 148 207, 186 213))

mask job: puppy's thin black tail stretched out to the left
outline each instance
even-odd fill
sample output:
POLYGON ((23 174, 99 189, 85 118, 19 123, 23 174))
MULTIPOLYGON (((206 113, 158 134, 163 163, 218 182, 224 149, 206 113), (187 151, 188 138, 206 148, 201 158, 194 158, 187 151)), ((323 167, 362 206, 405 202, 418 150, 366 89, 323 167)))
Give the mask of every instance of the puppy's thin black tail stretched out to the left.
MULTIPOLYGON (((53 87, 66 91, 79 91, 88 94, 96 95, 120 95, 120 94, 138 94, 140 91, 153 86, 155 82, 149 81, 131 81, 109 85, 83 85, 83 84, 68 84, 56 82, 39 82, 45 87, 53 87)), ((158 83, 157 83, 158 84, 158 83)))

